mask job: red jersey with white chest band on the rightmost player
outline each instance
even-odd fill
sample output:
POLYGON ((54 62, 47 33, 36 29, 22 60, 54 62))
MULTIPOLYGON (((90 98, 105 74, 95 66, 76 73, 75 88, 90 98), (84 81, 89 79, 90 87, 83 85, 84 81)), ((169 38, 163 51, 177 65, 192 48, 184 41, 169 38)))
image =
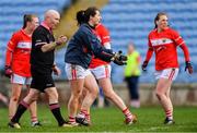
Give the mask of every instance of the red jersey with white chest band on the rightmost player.
POLYGON ((149 47, 155 53, 155 70, 178 68, 176 48, 184 44, 184 40, 176 31, 167 28, 158 33, 157 29, 153 29, 150 32, 148 39, 149 47))

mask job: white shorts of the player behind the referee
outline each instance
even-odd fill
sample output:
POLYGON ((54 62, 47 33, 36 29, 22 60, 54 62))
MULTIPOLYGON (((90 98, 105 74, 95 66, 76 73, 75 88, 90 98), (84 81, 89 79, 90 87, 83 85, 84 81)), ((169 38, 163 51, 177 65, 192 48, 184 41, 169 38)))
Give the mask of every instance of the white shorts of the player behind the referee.
POLYGON ((11 83, 30 85, 31 82, 32 82, 32 77, 25 77, 18 74, 12 74, 11 76, 11 83))

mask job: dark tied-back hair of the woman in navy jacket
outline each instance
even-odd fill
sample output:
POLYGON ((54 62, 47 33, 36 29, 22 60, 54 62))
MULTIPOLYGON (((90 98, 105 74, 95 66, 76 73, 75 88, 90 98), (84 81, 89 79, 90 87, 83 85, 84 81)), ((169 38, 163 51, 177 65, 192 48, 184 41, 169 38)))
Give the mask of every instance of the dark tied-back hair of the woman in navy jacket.
POLYGON ((95 7, 89 7, 85 11, 84 10, 78 11, 76 15, 78 24, 81 25, 82 23, 88 23, 90 16, 94 16, 96 14, 96 11, 100 10, 95 7))

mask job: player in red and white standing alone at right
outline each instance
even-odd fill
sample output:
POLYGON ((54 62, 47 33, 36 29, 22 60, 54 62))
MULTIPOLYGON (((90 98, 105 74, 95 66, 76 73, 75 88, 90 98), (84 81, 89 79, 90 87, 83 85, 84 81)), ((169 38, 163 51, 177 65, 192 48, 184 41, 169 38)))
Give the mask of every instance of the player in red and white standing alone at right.
POLYGON ((148 51, 142 64, 144 71, 152 53, 155 53, 155 78, 158 80, 155 94, 165 111, 165 124, 173 124, 173 105, 170 98, 170 90, 173 81, 178 74, 177 47, 181 47, 188 73, 193 73, 188 48, 184 39, 173 28, 169 27, 166 13, 158 13, 154 19, 155 28, 148 37, 148 51))

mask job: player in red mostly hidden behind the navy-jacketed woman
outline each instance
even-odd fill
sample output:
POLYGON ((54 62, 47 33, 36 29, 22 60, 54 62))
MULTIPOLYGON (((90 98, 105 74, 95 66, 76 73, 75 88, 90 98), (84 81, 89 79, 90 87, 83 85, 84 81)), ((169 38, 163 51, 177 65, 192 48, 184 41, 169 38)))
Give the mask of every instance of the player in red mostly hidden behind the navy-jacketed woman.
MULTIPOLYGON (((96 25, 95 35, 106 49, 111 49, 109 32, 103 24, 100 23, 99 25, 96 25)), ((125 114, 125 123, 131 124, 132 122, 136 122, 136 116, 131 114, 123 99, 113 89, 111 82, 109 62, 105 62, 97 58, 92 58, 89 69, 97 80, 99 85, 102 87, 105 97, 112 100, 125 114)), ((88 92, 85 90, 85 93, 88 92)), ((90 111, 81 110, 80 113, 85 113, 86 120, 90 123, 90 111)), ((78 116, 80 116, 80 113, 78 116)))

